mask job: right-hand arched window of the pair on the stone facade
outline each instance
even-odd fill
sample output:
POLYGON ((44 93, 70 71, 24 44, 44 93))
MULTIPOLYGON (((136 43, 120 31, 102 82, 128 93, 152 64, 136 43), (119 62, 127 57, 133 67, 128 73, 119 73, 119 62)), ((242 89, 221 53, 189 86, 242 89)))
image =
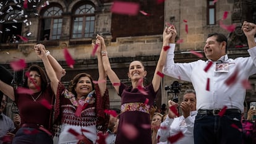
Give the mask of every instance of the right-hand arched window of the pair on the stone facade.
POLYGON ((74 11, 72 38, 90 38, 94 33, 95 8, 90 4, 83 4, 74 11))

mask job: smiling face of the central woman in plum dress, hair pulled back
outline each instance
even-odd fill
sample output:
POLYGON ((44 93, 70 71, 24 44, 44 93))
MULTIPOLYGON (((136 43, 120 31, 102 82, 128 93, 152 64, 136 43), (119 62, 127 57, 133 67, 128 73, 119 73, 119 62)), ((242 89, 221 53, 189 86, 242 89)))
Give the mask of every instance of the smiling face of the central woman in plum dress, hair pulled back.
POLYGON ((139 80, 147 75, 147 71, 145 70, 142 62, 133 61, 130 63, 128 77, 130 80, 139 80))

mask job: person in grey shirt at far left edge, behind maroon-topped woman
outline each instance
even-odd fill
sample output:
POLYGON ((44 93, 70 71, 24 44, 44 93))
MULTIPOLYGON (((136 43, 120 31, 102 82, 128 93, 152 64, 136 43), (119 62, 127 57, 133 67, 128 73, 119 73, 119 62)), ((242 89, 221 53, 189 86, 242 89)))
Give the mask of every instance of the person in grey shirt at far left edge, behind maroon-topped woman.
POLYGON ((4 109, 6 109, 7 98, 4 95, 2 97, 2 104, 0 107, 0 144, 11 143, 12 138, 14 138, 14 122, 10 117, 3 114, 4 109))

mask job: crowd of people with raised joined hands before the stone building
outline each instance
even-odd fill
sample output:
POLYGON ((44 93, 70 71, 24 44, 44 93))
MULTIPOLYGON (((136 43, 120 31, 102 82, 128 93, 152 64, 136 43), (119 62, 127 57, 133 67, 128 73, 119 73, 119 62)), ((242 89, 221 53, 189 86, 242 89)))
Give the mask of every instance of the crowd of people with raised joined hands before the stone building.
POLYGON ((66 71, 43 44, 36 44, 35 54, 45 70, 37 65, 28 68, 23 83, 26 92, 12 87, 11 73, 0 67, 4 75, 0 75, 0 91, 4 93, 0 144, 93 144, 103 143, 102 140, 106 144, 256 143, 256 126, 252 122, 256 110, 249 109, 246 120, 242 119, 246 111, 245 89, 241 83, 256 74, 256 25, 244 22, 242 30, 247 37, 249 57, 230 59, 226 54, 226 36, 213 33, 208 35, 203 48, 207 61, 175 63, 176 28, 174 25, 164 28, 163 46, 149 84, 143 83, 147 70, 140 61, 129 64, 127 77, 131 84, 122 83, 111 69, 103 36, 97 35, 92 43, 92 48, 98 46, 97 82, 90 72, 83 72, 75 75, 66 88, 61 82, 66 71), (214 66, 205 70, 209 64, 214 66), (218 66, 226 68, 223 71, 218 66), (179 104, 169 100, 168 108, 163 104, 158 112, 154 103, 161 73, 191 82, 194 90, 186 90, 179 104), (234 78, 234 74, 237 82, 228 85, 228 78, 234 78), (121 96, 120 109, 111 109, 116 116, 106 112, 109 109, 107 77, 121 96), (3 114, 6 96, 19 108, 14 122, 3 114), (182 111, 181 116, 178 109, 182 111), (245 130, 250 132, 249 136, 245 130))

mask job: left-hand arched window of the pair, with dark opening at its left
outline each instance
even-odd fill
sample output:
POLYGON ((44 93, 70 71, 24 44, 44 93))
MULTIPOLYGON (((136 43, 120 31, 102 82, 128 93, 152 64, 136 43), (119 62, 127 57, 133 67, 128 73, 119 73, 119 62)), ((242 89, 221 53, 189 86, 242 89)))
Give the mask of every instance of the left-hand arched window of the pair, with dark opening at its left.
POLYGON ((43 12, 40 40, 59 40, 62 27, 61 14, 62 9, 57 6, 49 7, 43 12))

